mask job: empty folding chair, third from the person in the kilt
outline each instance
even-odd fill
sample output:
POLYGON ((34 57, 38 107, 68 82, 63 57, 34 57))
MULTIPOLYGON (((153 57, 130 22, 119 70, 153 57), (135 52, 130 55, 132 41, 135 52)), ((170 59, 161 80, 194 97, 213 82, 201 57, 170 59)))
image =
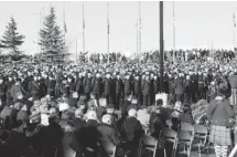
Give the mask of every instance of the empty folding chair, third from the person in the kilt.
MULTIPOLYGON (((163 136, 164 136, 164 142, 165 144, 170 143, 170 144, 173 144, 173 147, 172 147, 172 157, 175 156, 175 153, 176 153, 176 138, 177 138, 177 133, 171 128, 168 128, 165 127, 163 129, 163 136)), ((166 155, 166 148, 164 148, 165 150, 165 155, 166 155)))

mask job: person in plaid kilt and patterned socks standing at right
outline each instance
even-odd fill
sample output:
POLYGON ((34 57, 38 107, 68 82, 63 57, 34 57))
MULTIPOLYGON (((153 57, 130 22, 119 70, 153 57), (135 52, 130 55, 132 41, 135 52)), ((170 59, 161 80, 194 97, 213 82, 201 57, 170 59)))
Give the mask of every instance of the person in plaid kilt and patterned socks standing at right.
POLYGON ((207 107, 206 116, 211 122, 211 143, 215 145, 216 157, 227 157, 231 145, 231 127, 235 123, 234 109, 228 101, 228 88, 219 84, 218 95, 207 107))

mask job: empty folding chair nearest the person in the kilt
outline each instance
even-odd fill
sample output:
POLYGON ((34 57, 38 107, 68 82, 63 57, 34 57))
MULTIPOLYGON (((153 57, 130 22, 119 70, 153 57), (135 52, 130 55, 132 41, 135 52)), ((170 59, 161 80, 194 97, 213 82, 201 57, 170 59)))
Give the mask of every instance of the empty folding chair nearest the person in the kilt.
POLYGON ((208 133, 207 127, 205 127, 203 125, 198 125, 198 124, 194 125, 194 140, 193 140, 192 146, 198 147, 200 157, 202 156, 201 155, 202 150, 206 146, 207 133, 208 133))

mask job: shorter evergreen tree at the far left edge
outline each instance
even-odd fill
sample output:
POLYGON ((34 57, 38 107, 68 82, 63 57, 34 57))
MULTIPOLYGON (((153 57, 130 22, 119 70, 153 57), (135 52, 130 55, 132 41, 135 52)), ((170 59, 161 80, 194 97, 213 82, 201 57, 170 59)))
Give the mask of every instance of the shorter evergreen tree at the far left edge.
POLYGON ((11 17, 11 21, 6 27, 7 31, 3 34, 2 46, 10 50, 10 54, 20 55, 21 51, 19 51, 18 46, 20 46, 24 41, 24 35, 21 35, 17 32, 17 23, 14 19, 11 17))

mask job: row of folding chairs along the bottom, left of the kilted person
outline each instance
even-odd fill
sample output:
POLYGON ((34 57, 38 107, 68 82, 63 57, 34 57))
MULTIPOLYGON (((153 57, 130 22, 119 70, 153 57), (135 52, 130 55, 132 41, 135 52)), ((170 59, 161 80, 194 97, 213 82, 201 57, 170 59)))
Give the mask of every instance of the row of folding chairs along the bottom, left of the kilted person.
MULTIPOLYGON (((162 136, 164 137, 163 140, 165 143, 165 147, 163 149, 164 157, 166 157, 166 146, 169 144, 173 145, 172 157, 175 157, 177 146, 183 146, 184 153, 187 155, 187 157, 191 156, 191 150, 193 147, 198 147, 198 155, 201 157, 201 154, 207 143, 208 129, 207 127, 197 124, 191 125, 187 123, 181 123, 179 132, 175 132, 171 128, 164 128, 160 133, 160 139, 157 139, 148 134, 142 135, 138 148, 138 157, 142 156, 143 150, 150 151, 152 157, 155 157, 159 150, 159 143, 161 143, 162 136)), ((110 143, 103 143, 101 145, 109 157, 116 157, 115 145, 110 143)))

